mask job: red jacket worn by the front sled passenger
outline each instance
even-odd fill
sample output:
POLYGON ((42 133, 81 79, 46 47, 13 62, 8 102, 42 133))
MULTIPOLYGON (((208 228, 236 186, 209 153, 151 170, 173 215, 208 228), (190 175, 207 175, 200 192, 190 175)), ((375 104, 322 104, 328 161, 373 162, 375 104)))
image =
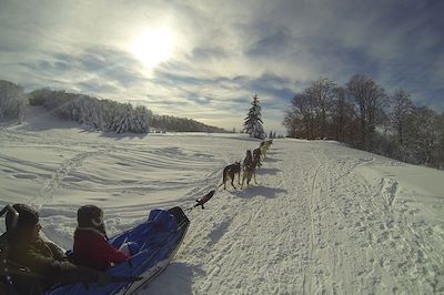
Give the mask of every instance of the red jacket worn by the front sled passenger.
POLYGON ((122 263, 129 257, 110 245, 99 231, 78 227, 74 233, 73 260, 79 265, 105 271, 111 263, 122 263))

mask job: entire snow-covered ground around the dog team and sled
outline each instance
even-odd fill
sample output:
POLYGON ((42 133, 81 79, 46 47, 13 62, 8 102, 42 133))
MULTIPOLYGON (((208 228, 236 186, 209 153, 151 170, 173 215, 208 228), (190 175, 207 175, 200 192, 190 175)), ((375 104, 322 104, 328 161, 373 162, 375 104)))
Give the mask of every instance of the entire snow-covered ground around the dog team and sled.
MULTIPOLYGON (((102 206, 112 235, 151 208, 192 205, 258 146, 242 134, 107 135, 33 109, 0 128, 0 204, 33 204, 44 235, 70 248, 80 205, 102 206)), ((286 139, 258 182, 193 210, 145 293, 444 293, 443 171, 286 139)))

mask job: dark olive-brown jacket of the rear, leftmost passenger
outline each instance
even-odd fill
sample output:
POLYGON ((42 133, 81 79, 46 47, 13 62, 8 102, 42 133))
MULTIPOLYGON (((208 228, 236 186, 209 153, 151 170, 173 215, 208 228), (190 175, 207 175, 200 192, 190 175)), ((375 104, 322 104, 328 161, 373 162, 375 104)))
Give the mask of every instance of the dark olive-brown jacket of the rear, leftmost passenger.
MULTIPOLYGON (((93 283, 98 279, 98 272, 89 267, 72 264, 63 252, 54 244, 44 242, 41 238, 23 241, 19 237, 10 240, 9 260, 27 266, 39 278, 17 278, 20 294, 34 294, 31 292, 32 284, 23 281, 37 281, 42 291, 61 283, 93 283)), ((29 282, 31 283, 31 282, 29 282)))

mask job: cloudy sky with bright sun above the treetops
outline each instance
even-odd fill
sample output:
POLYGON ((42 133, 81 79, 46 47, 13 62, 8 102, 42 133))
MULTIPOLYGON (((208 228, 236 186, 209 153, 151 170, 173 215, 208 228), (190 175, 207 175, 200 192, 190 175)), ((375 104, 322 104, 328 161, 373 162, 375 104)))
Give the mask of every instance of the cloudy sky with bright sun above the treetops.
POLYGON ((320 77, 372 77, 444 111, 444 1, 0 0, 0 79, 240 130, 254 94, 284 134, 320 77))

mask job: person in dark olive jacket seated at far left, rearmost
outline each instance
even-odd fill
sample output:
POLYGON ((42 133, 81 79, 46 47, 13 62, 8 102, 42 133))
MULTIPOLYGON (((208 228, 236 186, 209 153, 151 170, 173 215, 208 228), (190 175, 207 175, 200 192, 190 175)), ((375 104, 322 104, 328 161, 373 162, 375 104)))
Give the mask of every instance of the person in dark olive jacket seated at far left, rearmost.
POLYGON ((39 213, 24 204, 12 206, 19 217, 13 226, 13 215, 6 216, 11 262, 29 267, 37 277, 13 277, 19 294, 42 294, 57 284, 107 283, 107 274, 68 261, 54 244, 40 237, 39 213))

